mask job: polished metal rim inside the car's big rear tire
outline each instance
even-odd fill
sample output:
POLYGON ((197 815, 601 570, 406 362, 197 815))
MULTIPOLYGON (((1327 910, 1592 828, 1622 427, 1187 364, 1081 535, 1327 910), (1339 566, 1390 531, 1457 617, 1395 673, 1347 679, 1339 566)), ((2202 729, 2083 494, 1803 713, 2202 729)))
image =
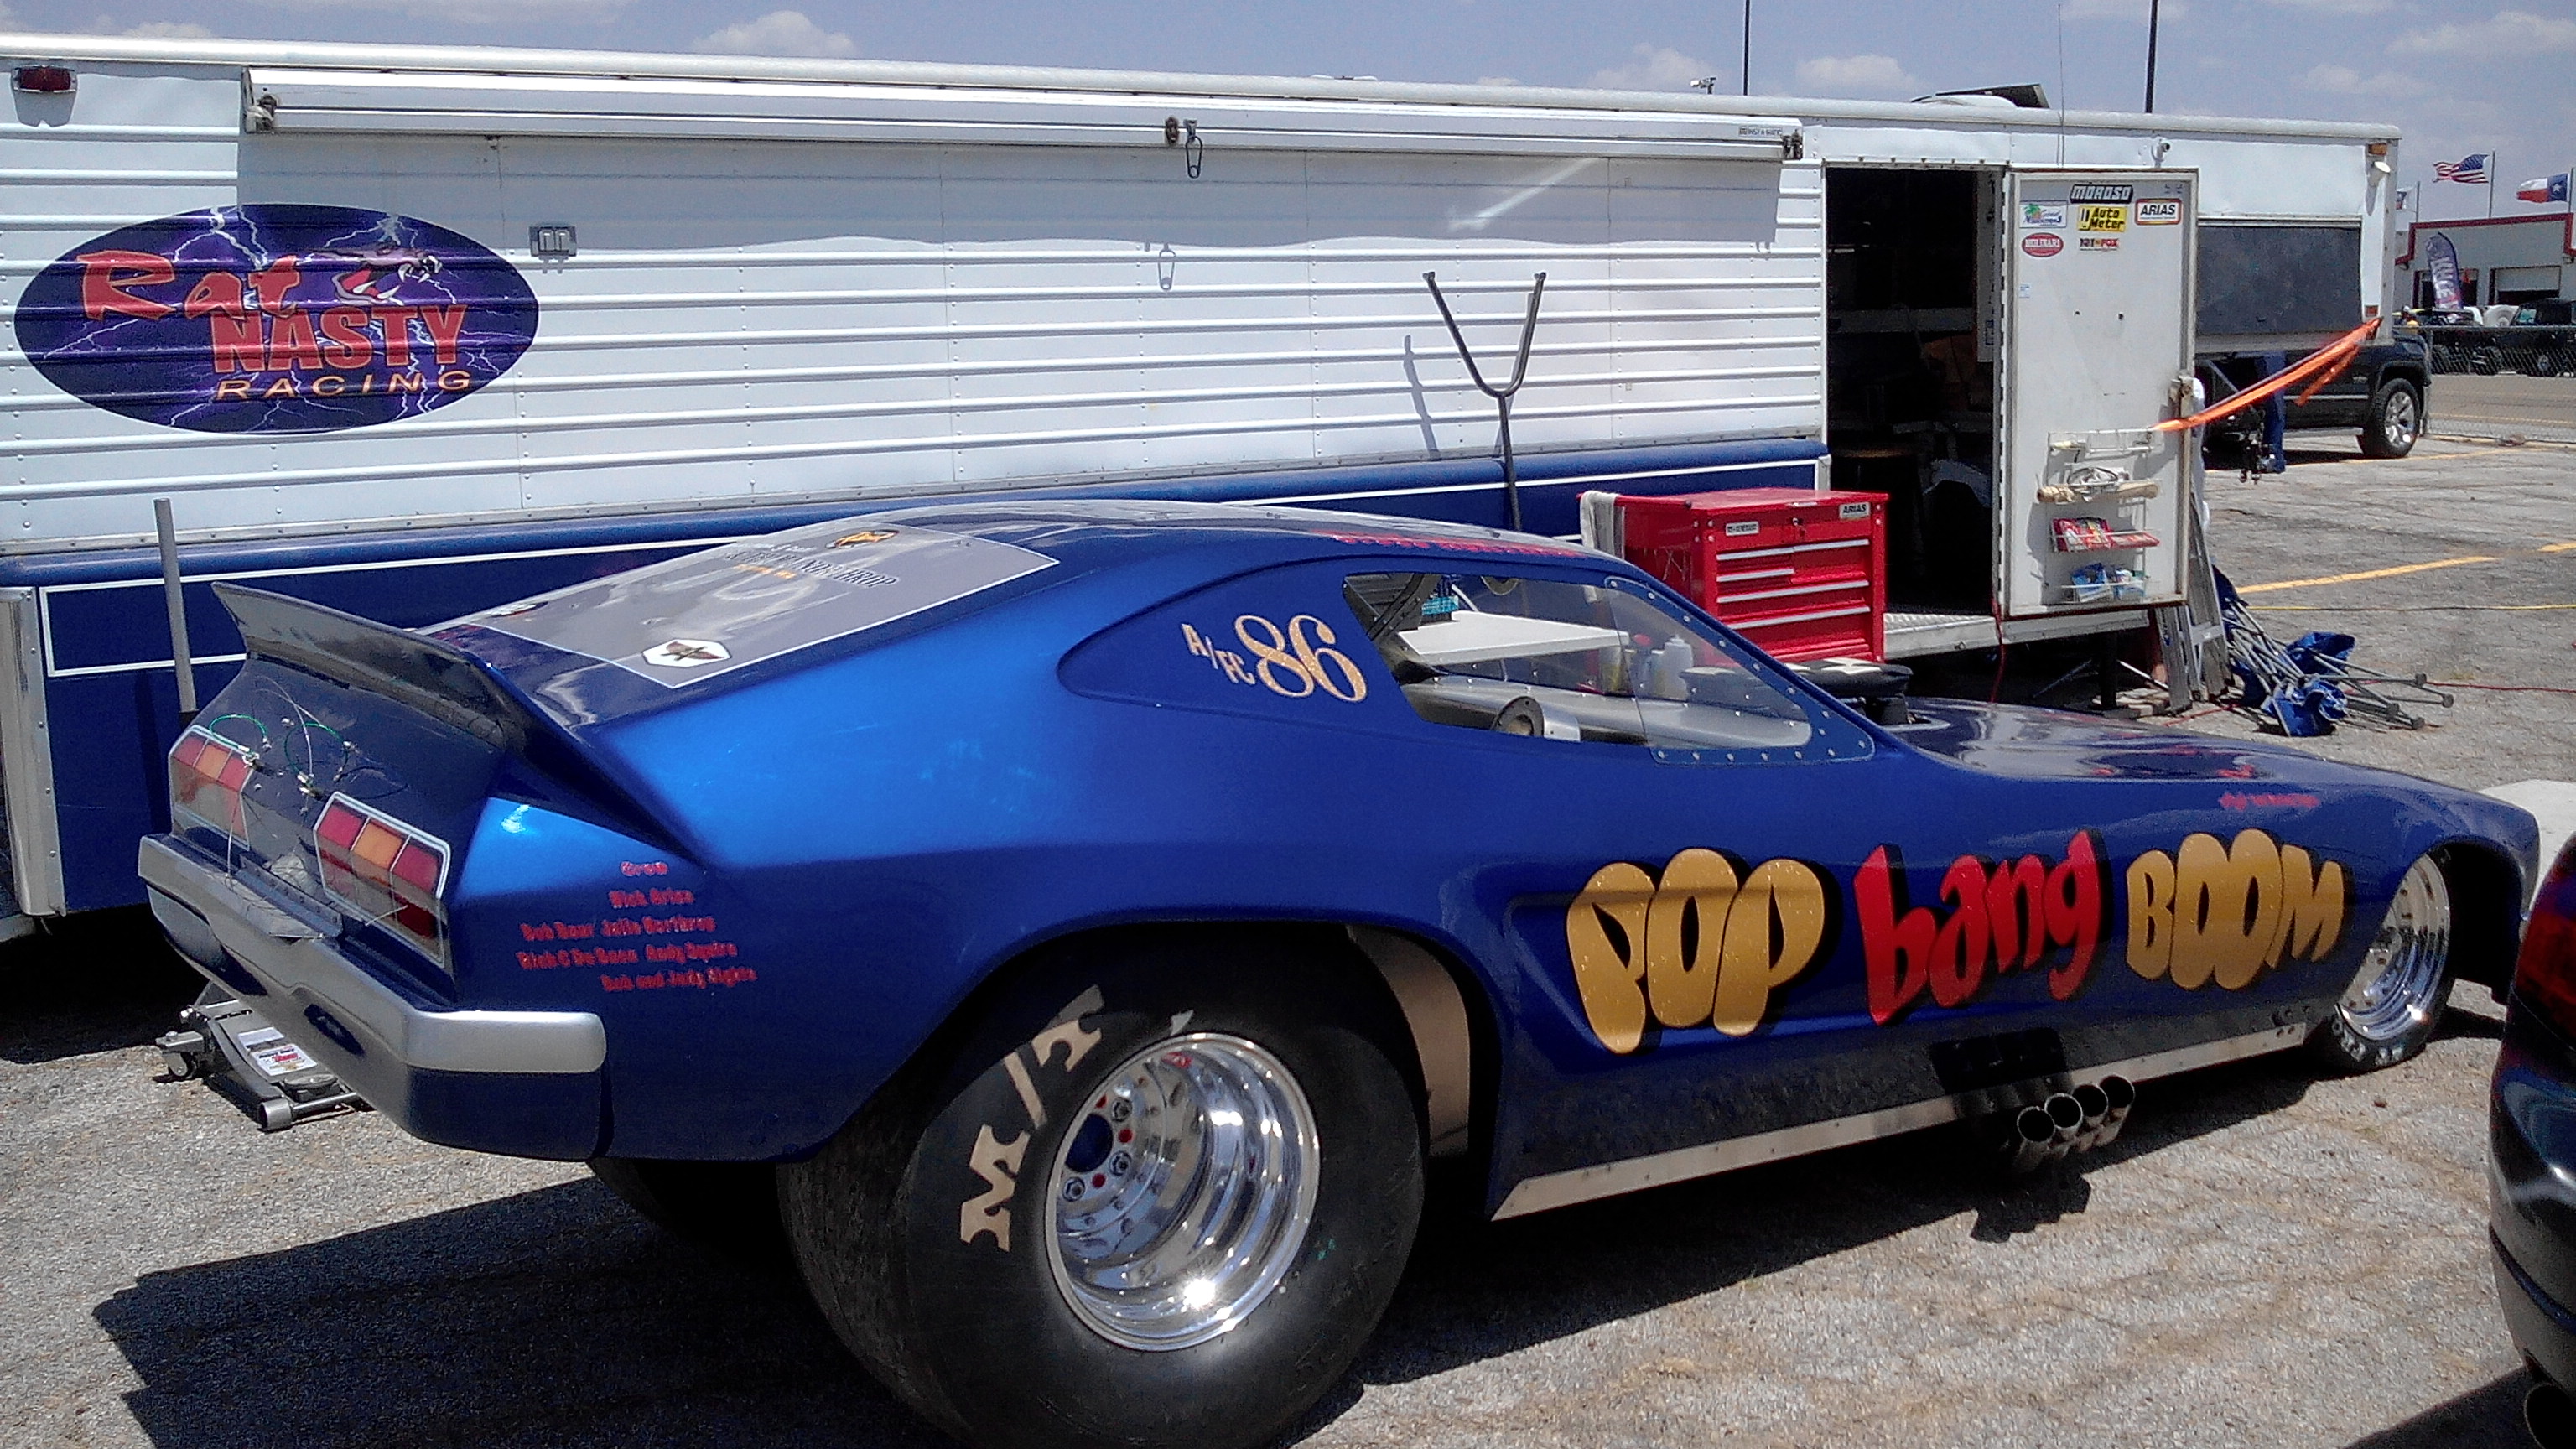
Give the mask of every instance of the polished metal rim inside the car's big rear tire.
POLYGON ((1118 1065, 1054 1165, 1056 1287, 1128 1348, 1188 1348, 1288 1276, 1314 1220, 1314 1109, 1278 1057, 1198 1031, 1118 1065))

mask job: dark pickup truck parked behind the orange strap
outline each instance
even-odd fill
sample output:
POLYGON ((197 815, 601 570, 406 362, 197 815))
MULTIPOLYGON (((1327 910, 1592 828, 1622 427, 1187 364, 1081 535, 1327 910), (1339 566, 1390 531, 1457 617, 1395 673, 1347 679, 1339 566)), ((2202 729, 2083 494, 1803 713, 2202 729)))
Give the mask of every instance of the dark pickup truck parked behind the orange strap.
MULTIPOLYGON (((2272 376, 2298 353, 2202 353, 2195 376, 2213 402, 2272 376)), ((2352 428, 2362 451, 2375 459, 2403 459, 2424 436, 2432 397, 2432 353, 2424 338, 2398 333, 2354 353, 2352 366, 2300 402, 2306 387, 2280 397, 2280 425, 2352 428)), ((2272 433, 2269 405, 2257 402, 2231 413, 2202 433, 2202 459, 2215 469, 2280 472, 2280 438, 2272 433)))

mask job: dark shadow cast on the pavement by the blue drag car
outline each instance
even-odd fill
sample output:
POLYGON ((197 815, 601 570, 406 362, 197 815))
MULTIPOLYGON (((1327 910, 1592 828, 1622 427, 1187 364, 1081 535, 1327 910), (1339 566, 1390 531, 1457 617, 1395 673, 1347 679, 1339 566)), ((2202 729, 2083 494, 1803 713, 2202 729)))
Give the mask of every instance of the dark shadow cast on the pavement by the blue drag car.
MULTIPOLYGON (((1953 1132, 1499 1225, 1432 1225, 1352 1374, 1406 1382, 1646 1312, 1924 1222, 1984 1243, 2084 1212, 2089 1165, 2277 1111, 2308 1078, 2244 1062, 2148 1083, 2128 1132, 2004 1183, 1953 1132)), ((793 1276, 696 1253, 598 1183, 147 1274, 95 1310, 165 1449, 930 1446, 842 1354, 793 1276)), ((2429 1439, 2424 1444, 2432 1444, 2429 1439)))

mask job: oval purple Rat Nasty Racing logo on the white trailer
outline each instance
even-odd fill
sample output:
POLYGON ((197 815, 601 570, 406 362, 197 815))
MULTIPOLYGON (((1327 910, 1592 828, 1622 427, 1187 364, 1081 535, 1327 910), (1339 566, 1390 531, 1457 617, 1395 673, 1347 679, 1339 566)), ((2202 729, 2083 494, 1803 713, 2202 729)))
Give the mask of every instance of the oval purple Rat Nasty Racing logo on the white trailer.
POLYGON ((348 206, 219 206, 46 266, 18 345, 54 387, 198 433, 332 433, 482 389, 536 338, 515 266, 446 227, 348 206))

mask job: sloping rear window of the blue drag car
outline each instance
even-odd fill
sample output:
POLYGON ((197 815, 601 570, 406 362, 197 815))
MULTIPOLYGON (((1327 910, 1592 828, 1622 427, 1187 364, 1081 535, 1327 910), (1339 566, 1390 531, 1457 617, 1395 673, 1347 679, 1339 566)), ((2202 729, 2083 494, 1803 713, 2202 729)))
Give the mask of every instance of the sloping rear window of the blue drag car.
POLYGON ((577 583, 433 634, 489 629, 685 688, 1054 565, 974 534, 853 531, 842 518, 577 583))

